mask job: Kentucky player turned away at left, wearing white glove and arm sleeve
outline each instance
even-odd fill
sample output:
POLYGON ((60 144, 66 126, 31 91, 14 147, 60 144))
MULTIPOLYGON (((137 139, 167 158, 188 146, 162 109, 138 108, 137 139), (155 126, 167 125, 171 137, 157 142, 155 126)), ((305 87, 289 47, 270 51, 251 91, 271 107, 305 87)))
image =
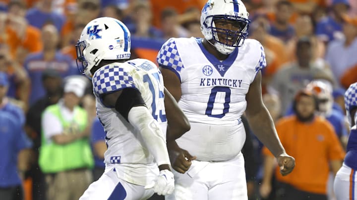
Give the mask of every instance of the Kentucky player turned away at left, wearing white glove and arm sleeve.
POLYGON ((130 32, 110 17, 89 22, 76 48, 79 71, 92 79, 108 147, 105 172, 80 200, 146 200, 154 192, 171 194, 174 175, 166 147, 164 93, 169 95, 165 103, 171 100, 170 108, 181 117, 176 116, 173 127, 183 124, 188 130, 189 124, 164 91, 158 67, 146 59, 128 61, 130 32))

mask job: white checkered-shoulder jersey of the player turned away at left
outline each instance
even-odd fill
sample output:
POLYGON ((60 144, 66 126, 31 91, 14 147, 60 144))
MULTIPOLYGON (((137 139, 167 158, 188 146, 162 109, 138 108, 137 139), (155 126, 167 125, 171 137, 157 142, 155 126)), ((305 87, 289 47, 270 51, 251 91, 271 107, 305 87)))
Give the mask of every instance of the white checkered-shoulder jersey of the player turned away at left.
POLYGON ((108 150, 104 162, 107 167, 115 166, 119 178, 137 185, 148 184, 159 173, 154 157, 144 147, 139 132, 115 108, 103 105, 102 96, 125 88, 139 90, 166 136, 164 85, 160 71, 149 60, 134 59, 100 68, 92 82, 97 116, 106 132, 108 150))

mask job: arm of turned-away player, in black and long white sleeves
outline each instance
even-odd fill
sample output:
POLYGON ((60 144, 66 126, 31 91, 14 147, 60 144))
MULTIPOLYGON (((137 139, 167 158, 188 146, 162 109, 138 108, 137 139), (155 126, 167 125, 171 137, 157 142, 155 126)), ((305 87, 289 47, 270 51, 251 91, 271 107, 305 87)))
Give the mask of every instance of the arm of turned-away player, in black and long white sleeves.
POLYGON ((149 113, 140 92, 136 89, 125 88, 113 93, 105 94, 103 104, 109 108, 115 108, 127 119, 140 133, 147 148, 153 154, 158 163, 159 170, 170 170, 169 159, 163 153, 166 150, 165 140, 160 136, 160 129, 154 118, 149 113))

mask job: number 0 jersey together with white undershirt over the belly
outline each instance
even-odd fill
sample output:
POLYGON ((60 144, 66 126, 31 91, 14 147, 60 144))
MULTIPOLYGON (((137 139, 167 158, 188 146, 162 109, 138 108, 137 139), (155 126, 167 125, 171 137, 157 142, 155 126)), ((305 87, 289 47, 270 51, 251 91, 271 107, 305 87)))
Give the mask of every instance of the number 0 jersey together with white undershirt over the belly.
POLYGON ((245 40, 220 61, 201 41, 171 38, 157 61, 181 81, 179 107, 191 122, 191 130, 177 140, 179 146, 198 160, 228 160, 238 155, 245 141, 240 117, 250 84, 266 66, 264 49, 257 40, 245 40), (206 124, 208 132, 193 127, 198 123, 206 124))

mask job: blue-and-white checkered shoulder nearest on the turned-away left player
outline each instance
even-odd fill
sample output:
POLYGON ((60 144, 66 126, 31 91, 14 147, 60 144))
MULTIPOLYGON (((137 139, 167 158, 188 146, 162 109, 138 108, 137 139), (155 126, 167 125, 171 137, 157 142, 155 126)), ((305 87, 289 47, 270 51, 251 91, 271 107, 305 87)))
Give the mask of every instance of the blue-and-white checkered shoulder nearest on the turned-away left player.
POLYGON ((128 87, 136 88, 130 74, 119 66, 105 66, 99 69, 93 76, 93 90, 101 95, 118 91, 128 87))

